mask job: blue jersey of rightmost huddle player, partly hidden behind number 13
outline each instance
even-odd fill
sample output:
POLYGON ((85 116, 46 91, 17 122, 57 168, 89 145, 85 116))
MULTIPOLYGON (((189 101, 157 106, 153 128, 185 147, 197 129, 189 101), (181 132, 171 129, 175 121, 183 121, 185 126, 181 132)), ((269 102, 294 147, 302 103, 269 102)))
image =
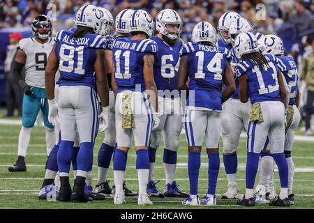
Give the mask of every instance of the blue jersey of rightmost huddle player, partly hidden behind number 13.
POLYGON ((290 90, 289 93, 289 105, 295 105, 295 96, 297 95, 299 75, 297 63, 290 56, 277 56, 277 66, 287 82, 287 86, 290 90))

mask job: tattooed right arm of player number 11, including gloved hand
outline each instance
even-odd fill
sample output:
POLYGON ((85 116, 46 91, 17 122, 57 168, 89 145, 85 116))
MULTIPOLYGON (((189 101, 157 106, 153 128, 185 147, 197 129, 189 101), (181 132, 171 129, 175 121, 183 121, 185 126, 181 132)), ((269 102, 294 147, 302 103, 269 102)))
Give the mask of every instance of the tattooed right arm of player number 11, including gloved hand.
POLYGON ((158 112, 158 95, 157 95, 157 87, 154 80, 154 62, 155 58, 152 54, 147 54, 144 56, 144 67, 143 67, 143 74, 144 74, 144 82, 145 82, 145 89, 150 90, 147 91, 147 95, 151 105, 155 112, 158 112), (151 95, 154 92, 155 95, 151 95), (154 98, 152 98, 154 97, 154 98))

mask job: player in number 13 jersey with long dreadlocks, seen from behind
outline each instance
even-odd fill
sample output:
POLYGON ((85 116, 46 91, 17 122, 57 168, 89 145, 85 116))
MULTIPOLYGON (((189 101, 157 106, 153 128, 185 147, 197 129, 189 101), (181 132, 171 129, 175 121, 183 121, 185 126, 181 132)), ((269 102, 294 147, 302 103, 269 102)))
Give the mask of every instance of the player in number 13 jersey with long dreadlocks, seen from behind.
POLYGON ((239 97, 246 103, 250 98, 251 114, 247 128, 246 194, 237 202, 240 206, 254 206, 253 187, 260 151, 267 137, 271 152, 279 170, 281 192, 271 206, 290 206, 287 199, 288 167, 283 146, 285 143, 285 84, 278 70, 277 59, 271 54, 260 54, 253 33, 240 33, 234 41, 234 50, 241 61, 235 74, 239 77, 239 97), (276 111, 276 112, 274 112, 276 111))

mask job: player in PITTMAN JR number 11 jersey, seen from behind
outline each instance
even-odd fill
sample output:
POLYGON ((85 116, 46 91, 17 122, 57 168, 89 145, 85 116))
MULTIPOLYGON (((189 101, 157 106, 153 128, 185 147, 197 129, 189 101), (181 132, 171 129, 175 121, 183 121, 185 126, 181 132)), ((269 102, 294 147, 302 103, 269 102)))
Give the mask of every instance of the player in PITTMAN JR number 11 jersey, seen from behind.
POLYGON ((135 10, 128 20, 132 38, 117 38, 112 44, 114 68, 112 87, 116 96, 117 149, 114 152, 114 204, 126 203, 123 183, 127 153, 134 136, 138 176, 138 205, 151 205, 147 195, 149 178, 149 139, 153 127, 151 107, 158 112, 154 82, 154 54, 158 45, 149 37, 154 32, 153 18, 135 10))

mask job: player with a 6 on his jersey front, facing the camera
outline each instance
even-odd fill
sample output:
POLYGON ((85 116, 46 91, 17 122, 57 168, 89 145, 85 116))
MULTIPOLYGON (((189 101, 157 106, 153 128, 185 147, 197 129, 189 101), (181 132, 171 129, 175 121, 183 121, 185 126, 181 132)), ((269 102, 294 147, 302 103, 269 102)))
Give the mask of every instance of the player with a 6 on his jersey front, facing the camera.
MULTIPOLYGON (((151 132, 149 145, 149 183, 147 192, 159 197, 188 197, 181 192, 175 180, 179 135, 182 130, 181 100, 178 91, 179 52, 183 41, 179 38, 182 22, 172 9, 161 10, 156 16, 158 34, 151 37, 158 44, 155 54, 154 79, 158 89, 160 123, 151 132), (163 166, 165 167, 165 190, 159 193, 154 182, 154 164, 160 138, 163 137, 163 166)), ((157 182, 158 183, 158 182, 157 182)))

